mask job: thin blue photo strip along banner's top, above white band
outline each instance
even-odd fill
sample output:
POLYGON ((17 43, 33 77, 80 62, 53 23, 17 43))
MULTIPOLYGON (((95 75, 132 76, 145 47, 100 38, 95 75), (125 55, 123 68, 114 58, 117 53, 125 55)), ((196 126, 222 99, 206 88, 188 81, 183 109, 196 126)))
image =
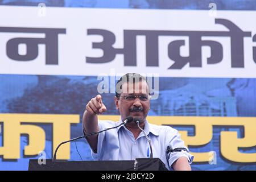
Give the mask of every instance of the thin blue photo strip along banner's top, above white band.
POLYGON ((256 10, 254 0, 0 0, 0 5, 50 7, 90 7, 116 9, 209 10, 215 3, 218 10, 256 10))

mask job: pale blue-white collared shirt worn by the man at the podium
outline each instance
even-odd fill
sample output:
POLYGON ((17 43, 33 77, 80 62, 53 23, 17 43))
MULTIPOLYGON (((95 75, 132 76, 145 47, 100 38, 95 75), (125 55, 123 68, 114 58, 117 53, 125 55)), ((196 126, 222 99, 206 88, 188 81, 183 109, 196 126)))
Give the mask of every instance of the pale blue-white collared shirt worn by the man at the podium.
MULTIPOLYGON (((121 124, 122 121, 98 121, 100 130, 121 124)), ((183 140, 180 139, 180 134, 177 130, 170 126, 158 126, 145 122, 144 131, 151 140, 153 158, 159 158, 166 165, 166 168, 171 170, 172 164, 184 156, 191 164, 193 155, 187 151, 168 152, 167 147, 186 148, 183 140)), ((147 158, 150 151, 148 141, 141 132, 137 139, 133 133, 126 129, 125 126, 119 126, 116 129, 104 131, 98 134, 97 153, 92 151, 94 160, 135 160, 136 158, 147 158)))

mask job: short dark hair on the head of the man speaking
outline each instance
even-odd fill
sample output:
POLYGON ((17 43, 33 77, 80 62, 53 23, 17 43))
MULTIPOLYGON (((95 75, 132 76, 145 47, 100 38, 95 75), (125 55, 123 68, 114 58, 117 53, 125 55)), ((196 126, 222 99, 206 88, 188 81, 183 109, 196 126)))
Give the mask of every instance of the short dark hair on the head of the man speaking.
MULTIPOLYGON (((117 97, 117 98, 120 97, 120 95, 121 95, 120 89, 122 89, 122 85, 124 82, 128 83, 130 81, 130 82, 135 83, 135 82, 139 82, 142 80, 146 81, 146 83, 147 83, 146 78, 143 77, 142 75, 139 75, 139 73, 126 73, 121 78, 119 78, 119 80, 117 81, 117 84, 115 84, 115 97, 117 97), (120 86, 118 86, 119 82, 121 82, 120 86)), ((147 83, 147 86, 148 86, 148 88, 150 88, 148 83, 147 83)))

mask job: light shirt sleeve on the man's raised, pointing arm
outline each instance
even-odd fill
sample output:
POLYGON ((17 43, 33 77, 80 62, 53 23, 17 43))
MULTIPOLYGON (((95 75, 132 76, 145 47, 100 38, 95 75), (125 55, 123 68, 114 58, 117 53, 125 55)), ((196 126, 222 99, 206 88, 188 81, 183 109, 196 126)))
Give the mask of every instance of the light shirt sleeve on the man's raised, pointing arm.
MULTIPOLYGON (((100 121, 98 121, 98 127, 99 127, 100 131, 105 129, 104 125, 100 121)), ((102 150, 102 144, 104 142, 104 138, 105 138, 105 132, 98 134, 98 143, 97 143, 97 151, 96 152, 94 152, 92 147, 90 147, 90 151, 91 151, 91 154, 92 154, 92 157, 94 160, 98 160, 101 156, 101 153, 102 153, 101 150, 102 150)), ((87 138, 85 138, 85 139, 88 143, 87 138)))

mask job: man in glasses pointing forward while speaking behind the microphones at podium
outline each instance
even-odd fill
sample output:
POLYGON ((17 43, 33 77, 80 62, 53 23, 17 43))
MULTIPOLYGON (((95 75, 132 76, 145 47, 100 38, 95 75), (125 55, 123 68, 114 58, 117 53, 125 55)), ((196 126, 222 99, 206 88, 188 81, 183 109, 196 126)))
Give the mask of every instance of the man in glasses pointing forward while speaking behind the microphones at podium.
POLYGON ((151 155, 162 160, 169 170, 191 170, 189 164, 193 156, 178 131, 170 126, 152 125, 146 119, 150 110, 150 87, 146 78, 138 73, 122 76, 115 86, 114 102, 121 115, 119 122, 98 121, 97 115, 106 112, 100 95, 86 105, 82 118, 84 134, 118 126, 127 117, 135 118, 134 122, 86 138, 94 160, 135 160, 151 155))

